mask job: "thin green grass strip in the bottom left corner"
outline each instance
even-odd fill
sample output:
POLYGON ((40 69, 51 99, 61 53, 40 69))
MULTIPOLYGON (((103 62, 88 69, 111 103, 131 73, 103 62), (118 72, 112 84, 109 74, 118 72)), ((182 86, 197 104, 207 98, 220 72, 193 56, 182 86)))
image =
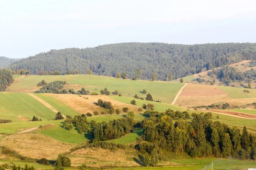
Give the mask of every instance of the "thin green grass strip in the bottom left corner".
POLYGON ((0 160, 0 163, 3 164, 15 164, 16 166, 24 167, 26 164, 29 166, 33 166, 36 169, 47 169, 52 170, 54 167, 50 165, 43 165, 43 164, 37 164, 37 163, 31 163, 31 162, 25 162, 25 161, 10 161, 10 160, 0 160))

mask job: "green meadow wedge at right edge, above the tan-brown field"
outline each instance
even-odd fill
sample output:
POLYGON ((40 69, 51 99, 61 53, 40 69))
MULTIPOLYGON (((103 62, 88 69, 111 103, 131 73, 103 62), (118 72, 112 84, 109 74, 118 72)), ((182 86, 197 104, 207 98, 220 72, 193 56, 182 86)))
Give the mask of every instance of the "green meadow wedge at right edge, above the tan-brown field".
MULTIPOLYGON (((227 95, 232 99, 245 99, 245 98, 256 98, 256 89, 248 88, 233 88, 226 86, 218 86, 218 88, 224 90, 227 95), (250 93, 243 93, 243 90, 248 90, 250 93)), ((253 103, 252 101, 251 103, 253 103)))

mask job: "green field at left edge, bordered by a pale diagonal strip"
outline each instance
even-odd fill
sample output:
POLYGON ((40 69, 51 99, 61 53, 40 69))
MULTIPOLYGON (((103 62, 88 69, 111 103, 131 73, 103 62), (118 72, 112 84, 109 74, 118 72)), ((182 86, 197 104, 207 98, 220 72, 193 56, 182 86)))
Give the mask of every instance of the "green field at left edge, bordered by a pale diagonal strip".
POLYGON ((11 119, 13 122, 28 121, 37 116, 38 119, 55 118, 55 113, 28 94, 0 93, 1 119, 11 119))

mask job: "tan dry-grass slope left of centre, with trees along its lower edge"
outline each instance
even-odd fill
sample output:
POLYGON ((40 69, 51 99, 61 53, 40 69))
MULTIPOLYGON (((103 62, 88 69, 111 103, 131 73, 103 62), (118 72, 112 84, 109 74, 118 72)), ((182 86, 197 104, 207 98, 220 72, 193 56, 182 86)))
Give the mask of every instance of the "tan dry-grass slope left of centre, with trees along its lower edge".
POLYGON ((98 102, 98 99, 111 102, 115 109, 119 108, 120 110, 122 110, 122 108, 128 107, 129 111, 134 111, 134 113, 138 112, 137 106, 129 105, 122 102, 117 102, 116 100, 113 100, 105 95, 96 95, 96 96, 86 95, 81 97, 79 95, 74 95, 74 94, 48 94, 48 95, 54 97, 55 99, 59 99, 61 102, 64 102, 70 108, 73 108, 75 111, 81 114, 82 113, 86 114, 87 112, 92 113, 93 111, 98 111, 98 112, 104 111, 103 108, 95 104, 98 102), (87 97, 88 99, 85 99, 87 97))

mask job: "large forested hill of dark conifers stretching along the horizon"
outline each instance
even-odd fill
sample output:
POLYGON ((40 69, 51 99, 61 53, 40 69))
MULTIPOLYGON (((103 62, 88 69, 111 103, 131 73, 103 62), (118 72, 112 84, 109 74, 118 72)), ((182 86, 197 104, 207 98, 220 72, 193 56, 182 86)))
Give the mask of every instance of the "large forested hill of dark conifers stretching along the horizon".
POLYGON ((222 65, 244 59, 256 59, 256 43, 218 43, 202 45, 178 45, 166 43, 119 43, 101 45, 95 48, 67 48, 51 50, 33 57, 21 59, 12 64, 12 70, 39 71, 79 70, 86 74, 115 76, 125 71, 128 78, 135 75, 135 69, 142 70, 142 79, 151 79, 157 72, 157 79, 165 80, 169 72, 174 79, 200 73, 222 65))

